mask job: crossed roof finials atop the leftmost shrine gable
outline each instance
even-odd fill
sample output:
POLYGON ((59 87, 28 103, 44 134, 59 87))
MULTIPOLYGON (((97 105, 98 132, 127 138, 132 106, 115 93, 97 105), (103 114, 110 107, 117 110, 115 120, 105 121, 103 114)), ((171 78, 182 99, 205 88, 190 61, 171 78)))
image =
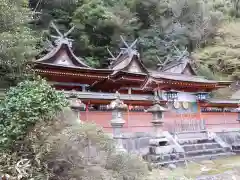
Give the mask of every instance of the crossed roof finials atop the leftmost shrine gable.
POLYGON ((58 36, 50 35, 52 38, 56 39, 54 42, 57 45, 64 43, 72 47, 73 39, 70 39, 67 36, 71 34, 71 32, 75 29, 75 26, 71 27, 71 29, 69 29, 66 33, 61 33, 58 27, 54 24, 54 22, 50 23, 50 27, 52 27, 58 34, 58 36))

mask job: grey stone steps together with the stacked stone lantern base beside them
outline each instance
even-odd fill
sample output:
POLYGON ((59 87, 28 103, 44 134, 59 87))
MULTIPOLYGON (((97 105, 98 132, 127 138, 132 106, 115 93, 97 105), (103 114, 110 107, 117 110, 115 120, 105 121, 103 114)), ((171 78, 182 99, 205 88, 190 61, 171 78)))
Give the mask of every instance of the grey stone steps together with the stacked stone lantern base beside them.
POLYGON ((215 159, 234 155, 231 147, 225 145, 214 133, 207 131, 181 132, 173 137, 166 134, 162 139, 150 142, 145 158, 155 167, 169 164, 184 164, 187 161, 215 159))

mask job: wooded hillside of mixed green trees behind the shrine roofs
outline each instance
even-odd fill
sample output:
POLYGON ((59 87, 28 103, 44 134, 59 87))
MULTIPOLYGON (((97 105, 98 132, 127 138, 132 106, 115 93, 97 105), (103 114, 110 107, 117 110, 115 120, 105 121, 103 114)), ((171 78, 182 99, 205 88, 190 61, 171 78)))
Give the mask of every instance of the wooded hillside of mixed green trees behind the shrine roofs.
POLYGON ((138 39, 147 67, 187 50, 199 75, 232 80, 240 70, 239 7, 239 0, 3 0, 0 75, 15 83, 30 72, 27 62, 51 45, 54 22, 61 32, 75 26, 74 52, 92 67, 107 66, 107 48, 117 54, 122 35, 138 39))

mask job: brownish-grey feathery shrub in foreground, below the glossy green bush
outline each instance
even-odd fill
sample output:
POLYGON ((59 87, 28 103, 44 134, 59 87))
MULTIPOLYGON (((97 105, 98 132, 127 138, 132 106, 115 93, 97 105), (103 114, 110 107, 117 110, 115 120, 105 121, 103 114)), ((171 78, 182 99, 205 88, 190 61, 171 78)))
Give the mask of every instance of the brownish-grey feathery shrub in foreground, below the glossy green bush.
POLYGON ((143 160, 117 153, 113 140, 101 128, 81 123, 69 108, 53 121, 39 121, 26 139, 15 145, 12 156, 7 152, 0 155, 0 172, 12 179, 145 180, 148 176, 143 160), (16 166, 23 158, 24 163, 16 166), (30 165, 27 170, 26 165, 30 165))

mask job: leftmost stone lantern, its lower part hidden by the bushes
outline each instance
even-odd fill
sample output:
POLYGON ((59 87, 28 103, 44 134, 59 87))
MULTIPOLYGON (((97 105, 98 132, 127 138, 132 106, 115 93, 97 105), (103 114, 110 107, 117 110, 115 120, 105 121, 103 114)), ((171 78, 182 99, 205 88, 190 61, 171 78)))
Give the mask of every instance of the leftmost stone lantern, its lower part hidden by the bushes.
POLYGON ((71 109, 76 114, 78 119, 80 119, 80 111, 85 108, 85 104, 82 103, 82 101, 78 98, 78 96, 75 93, 72 93, 68 97, 68 100, 70 102, 71 109))

